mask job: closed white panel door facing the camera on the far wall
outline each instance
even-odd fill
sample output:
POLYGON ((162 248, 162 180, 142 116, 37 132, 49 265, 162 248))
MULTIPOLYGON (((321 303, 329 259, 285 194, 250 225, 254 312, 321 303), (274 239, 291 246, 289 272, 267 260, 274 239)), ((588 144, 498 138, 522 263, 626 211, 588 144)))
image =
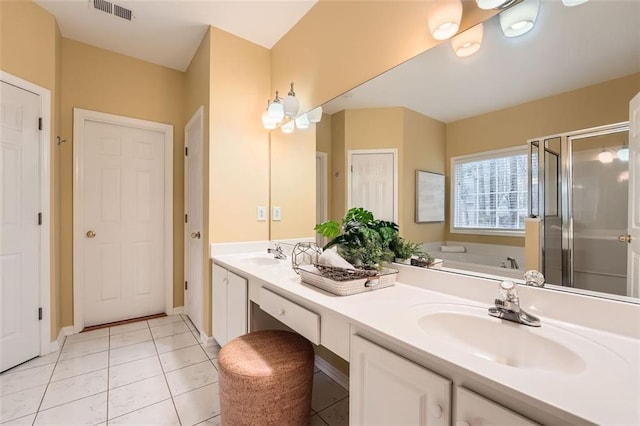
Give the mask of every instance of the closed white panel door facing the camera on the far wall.
POLYGON ((84 132, 85 326, 164 312, 164 134, 92 120, 84 132))

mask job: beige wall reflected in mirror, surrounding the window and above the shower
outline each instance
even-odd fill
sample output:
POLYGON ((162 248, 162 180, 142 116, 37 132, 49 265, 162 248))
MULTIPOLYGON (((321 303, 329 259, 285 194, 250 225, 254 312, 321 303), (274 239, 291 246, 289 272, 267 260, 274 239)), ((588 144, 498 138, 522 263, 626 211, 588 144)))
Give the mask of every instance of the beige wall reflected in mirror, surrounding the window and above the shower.
MULTIPOLYGON (((494 149, 525 146, 528 139, 627 121, 629 101, 640 91, 640 73, 522 105, 447 124, 447 188, 451 157, 494 149)), ((446 209, 450 200, 447 191, 446 209)), ((452 241, 524 246, 524 237, 453 234, 452 241)))

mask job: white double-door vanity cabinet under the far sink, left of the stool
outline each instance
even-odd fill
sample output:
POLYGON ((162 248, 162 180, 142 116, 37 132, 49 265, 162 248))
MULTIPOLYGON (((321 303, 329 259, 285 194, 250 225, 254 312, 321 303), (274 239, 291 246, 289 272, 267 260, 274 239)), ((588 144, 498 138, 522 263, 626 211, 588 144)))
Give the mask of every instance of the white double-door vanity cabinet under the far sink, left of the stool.
POLYGON ((220 346, 247 333, 247 280, 213 264, 213 338, 220 346))

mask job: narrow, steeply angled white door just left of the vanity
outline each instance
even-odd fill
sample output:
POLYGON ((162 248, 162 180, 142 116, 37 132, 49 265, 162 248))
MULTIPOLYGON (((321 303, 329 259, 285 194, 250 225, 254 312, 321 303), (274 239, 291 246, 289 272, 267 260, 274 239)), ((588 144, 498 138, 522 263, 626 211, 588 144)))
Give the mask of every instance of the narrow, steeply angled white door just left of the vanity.
POLYGON ((202 108, 185 128, 184 308, 202 332, 202 108))

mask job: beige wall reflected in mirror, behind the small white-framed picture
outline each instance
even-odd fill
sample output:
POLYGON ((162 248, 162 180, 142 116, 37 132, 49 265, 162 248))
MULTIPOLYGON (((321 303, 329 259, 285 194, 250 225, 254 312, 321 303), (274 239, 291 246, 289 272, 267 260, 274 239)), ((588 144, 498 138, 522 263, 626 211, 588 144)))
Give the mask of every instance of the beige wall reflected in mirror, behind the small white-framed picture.
POLYGON ((444 222, 416 223, 416 170, 445 172, 446 125, 438 120, 403 108, 403 226, 400 234, 417 243, 442 241, 444 222))

